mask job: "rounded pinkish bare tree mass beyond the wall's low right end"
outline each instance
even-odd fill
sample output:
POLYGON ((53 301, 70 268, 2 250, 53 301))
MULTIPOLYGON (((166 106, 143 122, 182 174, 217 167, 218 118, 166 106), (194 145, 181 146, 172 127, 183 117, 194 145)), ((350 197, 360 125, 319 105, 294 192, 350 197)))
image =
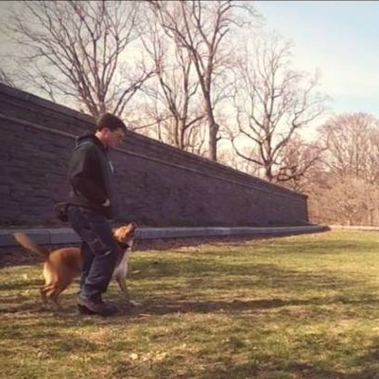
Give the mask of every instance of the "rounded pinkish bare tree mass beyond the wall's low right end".
POLYGON ((310 215, 317 222, 379 225, 379 123, 365 113, 332 117, 319 128, 326 150, 314 172, 310 215))

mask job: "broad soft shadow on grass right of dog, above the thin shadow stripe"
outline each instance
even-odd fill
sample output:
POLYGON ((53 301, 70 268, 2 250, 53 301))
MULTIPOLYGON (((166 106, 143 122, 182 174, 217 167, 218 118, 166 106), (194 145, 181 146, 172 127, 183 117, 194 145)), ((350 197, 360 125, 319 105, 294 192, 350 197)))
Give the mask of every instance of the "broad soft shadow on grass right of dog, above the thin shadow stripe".
MULTIPOLYGON (((187 281, 192 291, 225 289, 270 289, 283 288, 297 291, 299 288, 336 289, 357 284, 359 279, 342 277, 333 271, 300 271, 281 268, 276 264, 227 263, 220 264, 212 259, 186 259, 175 261, 148 261, 133 265, 136 274, 133 281, 165 280, 172 285, 172 279, 187 281), (169 282, 171 281, 171 282, 169 282)), ((133 271, 132 271, 133 272, 133 271)), ((162 285, 162 284, 160 284, 162 285)), ((154 288, 152 288, 154 290, 154 288)))

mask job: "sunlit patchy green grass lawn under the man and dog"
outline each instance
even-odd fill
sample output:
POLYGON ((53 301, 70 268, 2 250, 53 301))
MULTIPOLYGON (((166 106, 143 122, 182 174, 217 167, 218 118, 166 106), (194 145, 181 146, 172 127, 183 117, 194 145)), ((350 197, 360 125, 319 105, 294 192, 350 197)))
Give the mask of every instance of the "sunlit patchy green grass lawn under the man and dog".
POLYGON ((132 255, 123 305, 44 308, 40 265, 0 269, 0 378, 379 378, 379 233, 201 243, 132 255))

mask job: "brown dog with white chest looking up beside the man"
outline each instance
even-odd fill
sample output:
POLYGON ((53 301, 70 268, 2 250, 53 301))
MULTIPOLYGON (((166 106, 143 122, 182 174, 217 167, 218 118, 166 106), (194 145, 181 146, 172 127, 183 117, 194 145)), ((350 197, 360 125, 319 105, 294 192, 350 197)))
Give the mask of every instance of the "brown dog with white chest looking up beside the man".
MULTIPOLYGON (((113 235, 122 245, 132 247, 134 233, 137 225, 134 223, 113 230, 113 235)), ((45 285, 40 289, 44 303, 47 299, 52 300, 56 305, 59 294, 64 291, 81 272, 81 254, 78 247, 64 247, 49 252, 46 248, 39 246, 24 233, 14 233, 13 237, 20 245, 28 250, 38 253, 45 259, 43 276, 45 285)), ((128 259, 130 250, 126 247, 120 257, 116 268, 113 271, 113 278, 117 281, 122 293, 129 301, 129 293, 126 285, 126 274, 128 271, 128 259)), ((132 304, 138 303, 131 301, 132 304)))

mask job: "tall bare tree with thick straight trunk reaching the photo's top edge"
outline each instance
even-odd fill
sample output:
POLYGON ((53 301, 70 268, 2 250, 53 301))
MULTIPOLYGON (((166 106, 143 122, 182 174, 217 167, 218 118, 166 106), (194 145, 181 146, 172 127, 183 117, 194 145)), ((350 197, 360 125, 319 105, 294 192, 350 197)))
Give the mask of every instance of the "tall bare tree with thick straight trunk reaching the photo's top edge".
POLYGON ((223 44, 236 22, 234 3, 226 1, 150 1, 167 35, 188 50, 204 100, 208 122, 209 158, 217 160, 219 124, 214 116, 214 79, 231 56, 223 44))

